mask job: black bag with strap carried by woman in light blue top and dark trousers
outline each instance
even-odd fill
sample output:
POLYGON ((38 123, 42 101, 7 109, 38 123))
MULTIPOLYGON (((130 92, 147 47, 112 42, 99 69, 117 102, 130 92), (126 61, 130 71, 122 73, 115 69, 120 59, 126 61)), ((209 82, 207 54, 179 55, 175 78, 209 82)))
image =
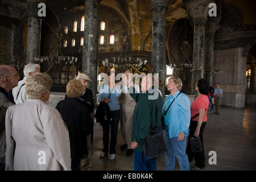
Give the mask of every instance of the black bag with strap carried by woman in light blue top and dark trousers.
MULTIPOLYGON (((108 99, 111 96, 112 90, 109 94, 108 99)), ((106 102, 100 102, 100 104, 98 105, 98 107, 96 109, 96 113, 95 113, 94 117, 96 118, 97 123, 111 121, 109 105, 106 104, 106 102)))

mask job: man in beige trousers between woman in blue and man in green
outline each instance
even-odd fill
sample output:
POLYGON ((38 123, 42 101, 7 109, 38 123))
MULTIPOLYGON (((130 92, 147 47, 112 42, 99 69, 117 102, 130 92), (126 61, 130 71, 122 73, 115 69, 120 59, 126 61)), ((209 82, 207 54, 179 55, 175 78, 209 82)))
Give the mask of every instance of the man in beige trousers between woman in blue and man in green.
POLYGON ((136 84, 133 82, 133 74, 131 73, 130 70, 126 71, 122 75, 122 81, 123 81, 123 104, 122 104, 122 109, 123 109, 123 115, 124 118, 121 119, 121 133, 123 139, 125 140, 125 144, 121 146, 121 150, 125 150, 127 147, 127 152, 126 156, 131 156, 133 155, 133 149, 131 149, 131 130, 133 129, 133 111, 134 107, 136 105, 136 102, 134 99, 130 96, 129 94, 129 87, 134 86, 134 88, 137 90, 139 93, 139 84, 136 84))

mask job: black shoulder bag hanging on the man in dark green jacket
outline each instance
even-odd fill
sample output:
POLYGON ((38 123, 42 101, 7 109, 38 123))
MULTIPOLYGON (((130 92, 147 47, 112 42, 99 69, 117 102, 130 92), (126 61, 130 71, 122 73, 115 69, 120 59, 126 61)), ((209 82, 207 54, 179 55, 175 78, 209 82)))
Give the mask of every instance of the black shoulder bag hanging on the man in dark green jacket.
MULTIPOLYGON (((157 102, 156 106, 158 107, 157 102)), ((144 138, 143 151, 145 156, 150 159, 166 154, 168 150, 166 143, 164 142, 162 126, 156 126, 153 129, 150 129, 149 134, 144 138)))

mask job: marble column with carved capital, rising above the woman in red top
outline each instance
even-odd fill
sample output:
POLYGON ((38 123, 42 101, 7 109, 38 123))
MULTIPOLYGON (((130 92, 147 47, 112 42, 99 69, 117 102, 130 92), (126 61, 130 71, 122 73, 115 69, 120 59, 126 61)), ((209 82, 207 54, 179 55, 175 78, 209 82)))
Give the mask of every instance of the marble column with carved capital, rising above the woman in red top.
POLYGON ((193 40, 193 72, 191 81, 191 93, 196 94, 196 82, 204 77, 204 49, 205 49, 205 24, 207 22, 208 0, 187 0, 184 1, 189 15, 194 24, 193 40))

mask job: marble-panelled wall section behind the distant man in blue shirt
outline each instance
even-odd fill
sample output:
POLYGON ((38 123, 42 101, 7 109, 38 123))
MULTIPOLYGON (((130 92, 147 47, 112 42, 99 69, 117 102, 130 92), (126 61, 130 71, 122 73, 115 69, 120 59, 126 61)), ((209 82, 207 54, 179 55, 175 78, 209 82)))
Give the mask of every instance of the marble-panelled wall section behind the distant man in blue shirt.
POLYGON ((214 67, 218 71, 213 82, 219 82, 223 91, 223 106, 245 107, 246 57, 242 56, 244 47, 226 48, 214 51, 214 67))

